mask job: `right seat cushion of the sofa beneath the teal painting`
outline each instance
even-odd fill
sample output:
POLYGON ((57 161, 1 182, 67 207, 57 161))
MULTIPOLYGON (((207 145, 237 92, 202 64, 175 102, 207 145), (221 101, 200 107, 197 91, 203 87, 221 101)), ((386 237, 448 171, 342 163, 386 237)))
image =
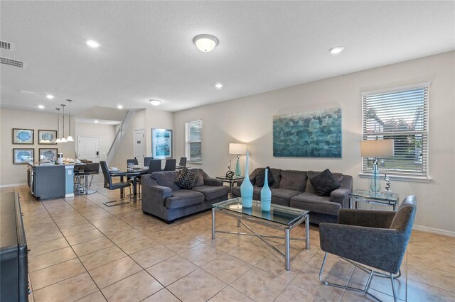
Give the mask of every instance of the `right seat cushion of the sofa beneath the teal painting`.
POLYGON ((338 211, 340 211, 341 208, 340 203, 331 202, 330 197, 328 196, 317 196, 316 194, 306 192, 292 196, 289 201, 289 206, 333 216, 338 216, 338 211))

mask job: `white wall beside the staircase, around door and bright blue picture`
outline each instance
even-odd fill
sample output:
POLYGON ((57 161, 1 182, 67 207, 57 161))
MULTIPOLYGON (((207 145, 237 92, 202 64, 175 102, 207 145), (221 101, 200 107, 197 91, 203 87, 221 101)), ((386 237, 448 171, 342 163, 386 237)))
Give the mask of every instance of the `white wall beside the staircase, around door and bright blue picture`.
POLYGON ((110 167, 126 168, 127 159, 134 158, 134 130, 145 130, 146 156, 151 156, 151 128, 173 129, 173 113, 151 108, 136 111, 110 167))

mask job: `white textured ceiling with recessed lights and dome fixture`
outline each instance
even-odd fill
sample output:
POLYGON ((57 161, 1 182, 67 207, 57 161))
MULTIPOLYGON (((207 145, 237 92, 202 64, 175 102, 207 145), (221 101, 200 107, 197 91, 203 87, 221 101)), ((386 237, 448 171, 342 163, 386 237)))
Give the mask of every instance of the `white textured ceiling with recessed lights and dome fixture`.
POLYGON ((1 1, 1 107, 179 111, 455 49, 454 1, 1 1), (212 52, 193 45, 209 33, 212 52), (85 40, 97 40, 92 49, 85 40), (343 45, 340 55, 328 49, 343 45), (224 84, 216 89, 217 82, 224 84), (19 94, 18 89, 35 94, 19 94), (45 94, 55 95, 52 101, 45 94))

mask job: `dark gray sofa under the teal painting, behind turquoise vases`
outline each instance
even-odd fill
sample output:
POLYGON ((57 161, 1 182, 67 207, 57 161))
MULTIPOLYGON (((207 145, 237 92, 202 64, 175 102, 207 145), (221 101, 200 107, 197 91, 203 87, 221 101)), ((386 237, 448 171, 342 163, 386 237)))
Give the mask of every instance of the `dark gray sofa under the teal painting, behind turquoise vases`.
MULTIPOLYGON (((250 174, 250 181, 253 184, 253 199, 260 200, 262 187, 256 186, 256 179, 259 172, 264 168, 257 168, 250 174)), ((318 196, 309 178, 320 174, 314 171, 296 171, 271 168, 275 179, 271 184, 272 203, 282 206, 291 206, 310 211, 310 223, 321 222, 336 223, 340 208, 349 208, 348 194, 353 191, 353 177, 341 173, 332 173, 333 178, 340 183, 340 187, 332 191, 330 196, 318 196)), ((240 196, 240 185, 232 188, 233 196, 240 196)))

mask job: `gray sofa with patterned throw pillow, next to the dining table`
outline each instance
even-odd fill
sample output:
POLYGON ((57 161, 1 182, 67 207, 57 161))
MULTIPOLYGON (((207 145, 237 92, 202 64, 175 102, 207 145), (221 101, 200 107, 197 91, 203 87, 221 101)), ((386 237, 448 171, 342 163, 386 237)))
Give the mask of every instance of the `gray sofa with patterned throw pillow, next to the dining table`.
POLYGON ((192 190, 182 189, 174 183, 179 171, 143 175, 142 212, 173 223, 176 218, 204 211, 213 203, 228 199, 229 187, 223 186, 223 181, 209 177, 202 169, 190 170, 198 174, 192 190))

